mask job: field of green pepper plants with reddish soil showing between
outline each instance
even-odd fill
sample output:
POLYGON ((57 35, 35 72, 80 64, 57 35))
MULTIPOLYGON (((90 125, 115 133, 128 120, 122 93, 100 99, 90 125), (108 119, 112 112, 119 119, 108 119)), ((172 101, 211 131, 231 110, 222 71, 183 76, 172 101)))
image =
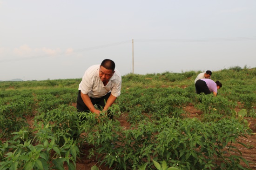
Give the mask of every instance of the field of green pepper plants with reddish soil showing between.
POLYGON ((113 120, 77 113, 81 78, 0 82, 0 170, 256 170, 256 68, 213 72, 217 97, 200 72, 122 76, 113 120))

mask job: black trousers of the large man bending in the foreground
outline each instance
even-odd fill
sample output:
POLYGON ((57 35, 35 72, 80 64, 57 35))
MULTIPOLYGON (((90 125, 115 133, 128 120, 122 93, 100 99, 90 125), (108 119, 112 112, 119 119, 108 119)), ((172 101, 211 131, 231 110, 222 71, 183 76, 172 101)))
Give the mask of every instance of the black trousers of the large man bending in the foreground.
MULTIPOLYGON (((102 96, 101 98, 91 98, 91 102, 93 105, 97 105, 99 109, 103 109, 106 105, 106 102, 110 96, 111 92, 102 96)), ((81 90, 78 91, 77 101, 76 101, 76 109, 78 112, 90 112, 89 108, 84 104, 83 99, 81 98, 81 90)), ((108 117, 112 119, 113 115, 108 113, 108 117)))

